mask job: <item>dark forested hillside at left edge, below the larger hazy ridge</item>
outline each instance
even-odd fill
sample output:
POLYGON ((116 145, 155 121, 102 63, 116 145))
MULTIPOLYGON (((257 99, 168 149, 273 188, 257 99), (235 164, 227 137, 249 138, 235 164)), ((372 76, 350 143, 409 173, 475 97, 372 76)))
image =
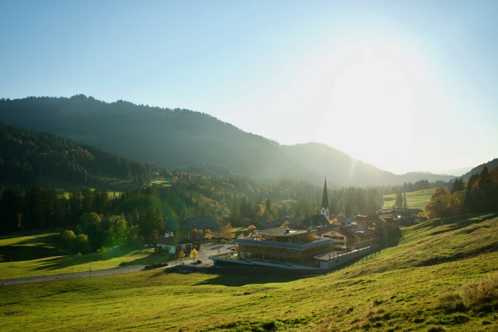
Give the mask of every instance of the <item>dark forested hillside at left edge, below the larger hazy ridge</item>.
POLYGON ((141 184, 154 171, 151 164, 1 121, 0 145, 0 183, 7 185, 29 186, 38 175, 80 185, 87 184, 92 175, 141 184))

